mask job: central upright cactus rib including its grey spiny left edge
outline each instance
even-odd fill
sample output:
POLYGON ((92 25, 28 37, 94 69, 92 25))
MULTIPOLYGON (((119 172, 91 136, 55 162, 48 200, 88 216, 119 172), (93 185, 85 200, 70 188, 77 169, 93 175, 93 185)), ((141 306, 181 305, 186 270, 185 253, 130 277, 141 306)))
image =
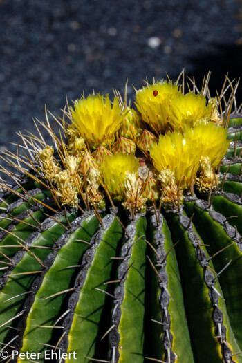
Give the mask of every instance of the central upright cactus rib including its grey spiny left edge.
POLYGON ((127 227, 130 238, 122 247, 122 263, 118 269, 119 285, 115 290, 110 333, 111 349, 116 360, 142 361, 142 324, 145 316, 145 250, 144 241, 147 222, 140 214, 127 227))

